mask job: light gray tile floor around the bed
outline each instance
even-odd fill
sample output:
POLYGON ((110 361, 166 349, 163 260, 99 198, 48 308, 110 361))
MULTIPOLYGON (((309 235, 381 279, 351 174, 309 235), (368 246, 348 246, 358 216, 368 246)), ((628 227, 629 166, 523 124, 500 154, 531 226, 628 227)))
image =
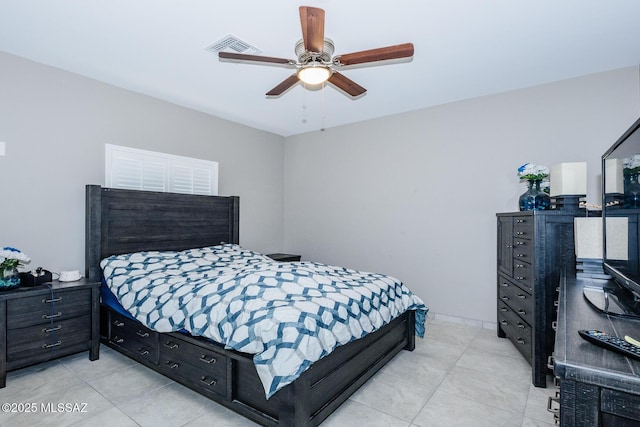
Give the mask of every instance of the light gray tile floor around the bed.
MULTIPOLYGON (((23 412, 3 407, 0 427, 255 425, 108 347, 100 351, 95 362, 85 352, 10 372, 0 403, 22 404, 23 412), (69 407, 43 412, 58 403, 69 407)), ((546 410, 554 393, 551 384, 531 385, 530 366, 495 331, 429 318, 415 351, 402 351, 322 426, 545 427, 554 424, 546 410)))

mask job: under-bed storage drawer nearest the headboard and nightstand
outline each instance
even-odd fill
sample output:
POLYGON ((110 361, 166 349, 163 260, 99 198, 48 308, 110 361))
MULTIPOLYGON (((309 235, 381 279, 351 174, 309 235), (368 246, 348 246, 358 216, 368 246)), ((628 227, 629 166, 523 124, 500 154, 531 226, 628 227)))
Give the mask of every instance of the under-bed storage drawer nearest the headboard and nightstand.
POLYGON ((113 311, 109 312, 109 341, 144 360, 158 363, 158 333, 113 311))

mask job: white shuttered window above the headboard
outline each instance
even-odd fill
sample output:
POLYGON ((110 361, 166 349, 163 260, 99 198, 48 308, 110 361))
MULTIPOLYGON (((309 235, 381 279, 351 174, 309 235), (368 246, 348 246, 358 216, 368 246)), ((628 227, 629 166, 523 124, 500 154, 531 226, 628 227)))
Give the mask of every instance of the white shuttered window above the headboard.
POLYGON ((218 194, 218 162, 105 144, 105 185, 128 190, 218 194))

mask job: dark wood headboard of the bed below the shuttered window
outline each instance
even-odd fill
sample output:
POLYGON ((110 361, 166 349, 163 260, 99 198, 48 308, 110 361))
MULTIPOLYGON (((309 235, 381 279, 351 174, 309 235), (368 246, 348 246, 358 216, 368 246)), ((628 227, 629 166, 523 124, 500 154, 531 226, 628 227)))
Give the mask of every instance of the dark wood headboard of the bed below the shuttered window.
POLYGON ((147 250, 239 243, 240 198, 86 187, 85 275, 100 261, 147 250))

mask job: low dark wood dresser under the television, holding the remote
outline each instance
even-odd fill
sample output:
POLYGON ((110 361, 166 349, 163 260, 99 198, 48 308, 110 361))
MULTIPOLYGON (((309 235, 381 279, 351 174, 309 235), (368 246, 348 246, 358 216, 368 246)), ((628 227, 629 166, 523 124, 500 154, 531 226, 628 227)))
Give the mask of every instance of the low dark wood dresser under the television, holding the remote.
POLYGON ((614 286, 611 281, 576 279, 572 274, 561 279, 553 361, 560 383, 560 425, 638 427, 640 361, 591 344, 578 331, 597 329, 638 338, 640 319, 601 313, 583 297, 585 285, 614 286))

